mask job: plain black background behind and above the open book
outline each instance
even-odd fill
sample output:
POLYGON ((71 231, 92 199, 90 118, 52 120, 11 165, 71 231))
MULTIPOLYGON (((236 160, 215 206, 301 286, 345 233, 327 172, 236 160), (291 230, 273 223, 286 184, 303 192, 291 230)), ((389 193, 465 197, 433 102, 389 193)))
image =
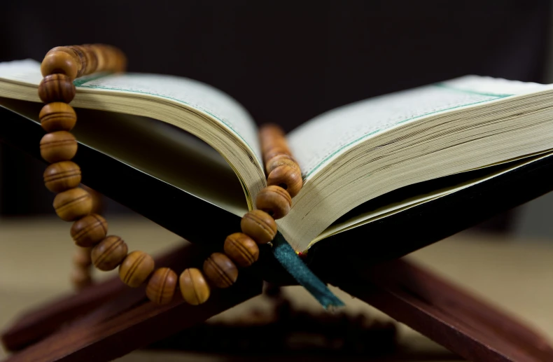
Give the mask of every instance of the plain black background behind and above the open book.
MULTIPOLYGON (((549 1, 7 1, 0 61, 111 43, 129 71, 209 83, 258 123, 291 130, 343 104, 465 74, 543 83, 551 10, 549 1)), ((2 146, 1 214, 53 213, 44 167, 2 146)))

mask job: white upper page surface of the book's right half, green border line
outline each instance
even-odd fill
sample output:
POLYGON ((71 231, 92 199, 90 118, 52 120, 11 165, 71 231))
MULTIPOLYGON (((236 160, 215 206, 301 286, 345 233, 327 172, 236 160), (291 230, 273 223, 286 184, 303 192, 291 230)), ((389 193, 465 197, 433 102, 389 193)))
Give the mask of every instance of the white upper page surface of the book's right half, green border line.
POLYGON ((307 181, 337 155, 398 125, 547 87, 549 85, 465 76, 328 111, 290 132, 288 142, 307 181))

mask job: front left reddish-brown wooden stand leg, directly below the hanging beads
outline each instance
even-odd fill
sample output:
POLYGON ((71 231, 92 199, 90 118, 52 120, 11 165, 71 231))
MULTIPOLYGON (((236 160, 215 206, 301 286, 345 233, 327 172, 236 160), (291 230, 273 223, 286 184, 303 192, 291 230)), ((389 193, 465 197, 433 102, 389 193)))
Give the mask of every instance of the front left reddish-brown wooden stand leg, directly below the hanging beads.
POLYGON ((13 354, 6 362, 111 361, 259 295, 261 287, 259 279, 243 272, 234 286, 214 291, 200 306, 188 305, 180 295, 169 305, 158 306, 144 298, 144 287, 127 288, 115 300, 13 354))

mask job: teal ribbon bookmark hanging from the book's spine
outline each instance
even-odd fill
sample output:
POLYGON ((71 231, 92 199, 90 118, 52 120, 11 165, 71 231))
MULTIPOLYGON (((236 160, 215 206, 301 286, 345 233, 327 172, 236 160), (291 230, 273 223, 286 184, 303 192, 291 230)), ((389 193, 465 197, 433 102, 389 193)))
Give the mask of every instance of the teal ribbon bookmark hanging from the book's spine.
POLYGON ((288 244, 280 232, 276 232, 272 244, 272 252, 276 260, 279 260, 284 269, 306 288, 325 309, 344 306, 344 302, 339 300, 330 291, 328 286, 321 279, 318 279, 300 257, 297 256, 292 246, 288 244))

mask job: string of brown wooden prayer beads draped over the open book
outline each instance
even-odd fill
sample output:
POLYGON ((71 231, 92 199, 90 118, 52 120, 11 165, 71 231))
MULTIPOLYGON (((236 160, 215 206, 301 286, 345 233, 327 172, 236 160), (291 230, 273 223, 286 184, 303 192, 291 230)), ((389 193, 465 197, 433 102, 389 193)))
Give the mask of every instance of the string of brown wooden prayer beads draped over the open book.
POLYGON ((78 286, 90 283, 90 264, 99 270, 119 268, 120 279, 131 287, 147 283, 146 295, 158 304, 171 302, 177 283, 184 300, 191 305, 206 302, 211 288, 227 288, 235 283, 238 267, 248 267, 259 256, 258 244, 267 244, 276 235, 275 219, 288 214, 292 197, 302 187, 300 167, 292 157, 282 130, 276 125, 260 129, 267 187, 255 199, 255 207, 241 219, 241 232, 225 239, 223 253, 212 253, 204 260, 202 270, 191 267, 179 277, 167 267, 155 269, 153 258, 144 251, 128 252, 121 237, 107 235, 108 224, 92 212, 92 197, 78 187, 80 167, 71 159, 77 152, 77 141, 71 131, 76 113, 69 103, 75 97, 73 81, 94 72, 120 72, 126 67, 125 55, 112 46, 86 44, 63 46, 50 50, 41 64, 43 80, 38 96, 45 103, 39 114, 47 132, 41 139, 41 156, 50 162, 44 172, 48 190, 57 193, 54 208, 64 221, 73 221, 71 237, 83 248, 73 262, 78 265, 73 281, 78 286), (90 251, 90 253, 89 253, 90 251))

